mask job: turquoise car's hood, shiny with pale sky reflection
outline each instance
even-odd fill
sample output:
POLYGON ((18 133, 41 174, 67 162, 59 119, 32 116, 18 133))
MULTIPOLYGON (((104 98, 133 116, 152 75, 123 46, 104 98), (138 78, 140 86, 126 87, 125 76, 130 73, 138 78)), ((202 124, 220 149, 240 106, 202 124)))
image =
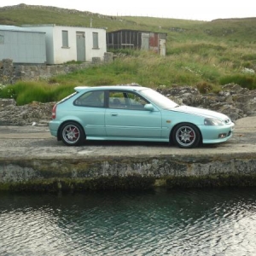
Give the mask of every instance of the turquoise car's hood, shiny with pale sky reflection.
POLYGON ((189 106, 179 106, 177 108, 172 108, 172 111, 182 112, 182 113, 191 113, 195 115, 201 115, 206 118, 217 118, 217 119, 229 119, 224 113, 218 113, 216 111, 208 110, 205 108, 194 108, 189 106))

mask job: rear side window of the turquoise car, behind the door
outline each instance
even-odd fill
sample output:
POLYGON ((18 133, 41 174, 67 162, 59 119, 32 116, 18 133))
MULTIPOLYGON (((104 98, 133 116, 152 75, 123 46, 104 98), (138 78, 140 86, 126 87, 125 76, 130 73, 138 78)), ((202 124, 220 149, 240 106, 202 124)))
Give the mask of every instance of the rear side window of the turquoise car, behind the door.
POLYGON ((76 106, 102 108, 104 107, 104 91, 93 90, 85 92, 73 103, 76 106))

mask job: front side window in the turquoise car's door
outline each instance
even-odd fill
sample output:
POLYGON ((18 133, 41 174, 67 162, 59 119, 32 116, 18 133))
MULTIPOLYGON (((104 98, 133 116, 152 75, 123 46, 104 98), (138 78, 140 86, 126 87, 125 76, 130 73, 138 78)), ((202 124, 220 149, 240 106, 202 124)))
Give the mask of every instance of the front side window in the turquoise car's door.
POLYGON ((109 91, 109 108, 144 110, 148 102, 133 92, 109 91))

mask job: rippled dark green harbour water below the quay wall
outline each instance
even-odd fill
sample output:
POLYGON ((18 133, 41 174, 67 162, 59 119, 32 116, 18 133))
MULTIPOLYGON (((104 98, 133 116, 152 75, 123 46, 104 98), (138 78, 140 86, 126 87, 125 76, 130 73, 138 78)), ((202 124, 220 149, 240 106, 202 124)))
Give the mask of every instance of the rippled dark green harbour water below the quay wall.
POLYGON ((2 192, 0 255, 256 255, 256 188, 2 192))

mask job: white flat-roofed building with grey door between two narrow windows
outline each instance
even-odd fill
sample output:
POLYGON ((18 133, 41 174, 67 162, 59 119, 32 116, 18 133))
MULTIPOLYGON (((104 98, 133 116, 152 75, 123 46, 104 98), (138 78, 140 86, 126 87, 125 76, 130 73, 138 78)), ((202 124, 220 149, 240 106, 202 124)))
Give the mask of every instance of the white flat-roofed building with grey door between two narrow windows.
POLYGON ((26 27, 46 33, 47 64, 62 64, 67 61, 91 62, 93 57, 103 61, 104 53, 107 52, 106 30, 103 28, 54 24, 26 27))

